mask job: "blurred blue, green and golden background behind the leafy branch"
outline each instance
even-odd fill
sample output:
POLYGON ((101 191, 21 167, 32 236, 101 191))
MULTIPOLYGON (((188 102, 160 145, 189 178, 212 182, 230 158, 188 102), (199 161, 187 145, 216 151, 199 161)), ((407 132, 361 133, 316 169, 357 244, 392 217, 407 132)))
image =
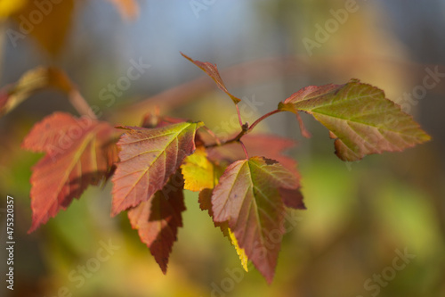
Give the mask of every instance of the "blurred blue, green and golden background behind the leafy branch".
POLYGON ((53 111, 77 114, 61 92, 39 92, 0 118, 0 244, 7 194, 16 241, 13 291, 0 250, 0 295, 445 296, 445 1, 0 0, 0 20, 2 87, 36 66, 59 67, 115 124, 138 124, 158 105, 220 136, 236 131, 231 100, 182 52, 218 65, 249 122, 301 87, 360 78, 433 136, 403 153, 344 163, 315 120, 303 117, 312 132, 305 139, 291 114, 269 118, 258 131, 298 143, 288 153, 307 206, 289 211, 273 283, 252 266, 234 274, 238 255, 190 192, 164 276, 125 213, 109 217, 109 184, 27 235, 30 168, 41 154, 20 142, 53 111), (134 63, 150 67, 111 91, 134 63), (82 270, 110 243, 107 260, 82 270))

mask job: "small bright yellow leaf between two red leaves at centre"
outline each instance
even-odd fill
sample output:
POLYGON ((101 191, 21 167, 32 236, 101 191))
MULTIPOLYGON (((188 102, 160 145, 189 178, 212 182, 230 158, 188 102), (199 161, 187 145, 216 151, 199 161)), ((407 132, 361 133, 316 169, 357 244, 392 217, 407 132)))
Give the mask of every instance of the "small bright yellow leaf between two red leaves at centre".
POLYGON ((198 192, 214 188, 214 165, 208 161, 206 149, 198 147, 181 166, 184 176, 184 189, 198 192))

